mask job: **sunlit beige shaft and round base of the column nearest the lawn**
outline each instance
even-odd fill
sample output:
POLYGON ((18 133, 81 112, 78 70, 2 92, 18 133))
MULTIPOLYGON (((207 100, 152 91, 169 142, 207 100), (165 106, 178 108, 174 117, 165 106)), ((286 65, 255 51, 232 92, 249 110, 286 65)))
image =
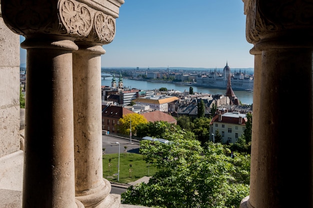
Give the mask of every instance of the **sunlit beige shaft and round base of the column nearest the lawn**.
POLYGON ((75 195, 86 208, 109 195, 102 174, 101 46, 80 45, 73 53, 75 195))

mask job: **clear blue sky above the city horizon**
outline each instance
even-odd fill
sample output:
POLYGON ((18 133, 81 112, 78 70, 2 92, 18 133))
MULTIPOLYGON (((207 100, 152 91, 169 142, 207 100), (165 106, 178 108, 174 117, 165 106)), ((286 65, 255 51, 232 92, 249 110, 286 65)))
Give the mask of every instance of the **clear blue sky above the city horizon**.
POLYGON ((254 59, 242 0, 125 0, 103 48, 102 67, 252 68, 254 59))

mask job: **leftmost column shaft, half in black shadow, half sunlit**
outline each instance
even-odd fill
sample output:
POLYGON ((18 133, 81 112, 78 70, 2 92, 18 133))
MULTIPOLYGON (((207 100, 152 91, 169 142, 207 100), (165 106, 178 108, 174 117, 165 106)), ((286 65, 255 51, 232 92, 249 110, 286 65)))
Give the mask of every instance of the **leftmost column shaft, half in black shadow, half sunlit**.
POLYGON ((70 40, 26 39, 23 208, 76 208, 70 40))

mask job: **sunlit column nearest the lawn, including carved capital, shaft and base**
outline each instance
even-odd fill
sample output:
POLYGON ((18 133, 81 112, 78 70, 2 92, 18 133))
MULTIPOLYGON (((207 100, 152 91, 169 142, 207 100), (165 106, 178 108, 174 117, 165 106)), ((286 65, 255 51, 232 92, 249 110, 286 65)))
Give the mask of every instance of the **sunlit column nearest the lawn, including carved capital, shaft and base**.
POLYGON ((109 194, 111 186, 102 171, 100 57, 105 53, 102 45, 114 38, 117 16, 104 8, 85 8, 92 29, 76 39, 79 49, 73 53, 75 196, 86 208, 118 208, 120 196, 109 194))

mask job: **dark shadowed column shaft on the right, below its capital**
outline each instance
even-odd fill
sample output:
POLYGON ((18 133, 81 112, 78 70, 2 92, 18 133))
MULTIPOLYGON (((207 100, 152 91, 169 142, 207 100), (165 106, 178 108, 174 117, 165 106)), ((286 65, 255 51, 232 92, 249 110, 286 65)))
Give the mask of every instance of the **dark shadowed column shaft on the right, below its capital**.
POLYGON ((312 205, 312 51, 264 50, 262 71, 264 115, 253 188, 262 195, 254 196, 253 207, 307 207, 312 205), (301 98, 305 102, 288 102, 301 98))

